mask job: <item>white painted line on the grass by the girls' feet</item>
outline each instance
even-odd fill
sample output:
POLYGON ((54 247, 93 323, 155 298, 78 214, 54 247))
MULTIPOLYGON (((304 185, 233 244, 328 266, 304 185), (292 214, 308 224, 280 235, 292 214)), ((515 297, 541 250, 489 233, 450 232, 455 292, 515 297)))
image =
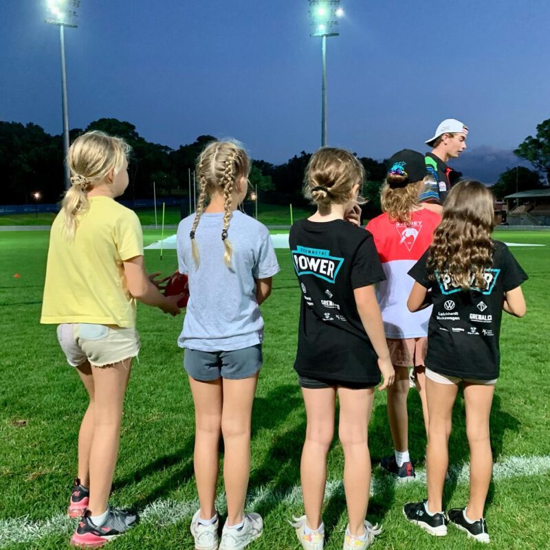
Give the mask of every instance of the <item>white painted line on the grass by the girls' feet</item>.
MULTIPOLYGON (((469 465, 454 465, 449 468, 450 477, 457 483, 468 482, 469 465)), ((550 455, 547 456, 509 456, 505 461, 494 463, 493 479, 514 478, 520 476, 540 476, 550 472, 550 455)), ((426 483, 426 470, 419 468, 416 471, 415 481, 412 483, 426 483)), ((380 467, 373 469, 373 481, 371 494, 377 494, 394 485, 399 490, 401 483, 395 481, 393 476, 382 472, 380 467)), ((405 485, 409 485, 408 483, 405 485)), ((344 494, 341 480, 327 481, 325 500, 333 496, 344 494)), ((299 485, 286 491, 274 491, 269 486, 256 487, 247 497, 247 509, 256 509, 259 506, 275 507, 278 505, 299 506, 302 504, 302 489, 299 485)), ((155 502, 146 505, 140 512, 140 525, 152 525, 162 527, 173 525, 177 522, 190 520, 199 503, 197 499, 181 502, 173 498, 159 498, 155 502)), ((216 507, 220 514, 225 514, 225 495, 221 494, 216 499, 216 507)), ((29 543, 50 536, 52 534, 69 533, 76 527, 76 520, 72 520, 65 514, 56 514, 47 520, 30 520, 28 517, 8 518, 0 520, 0 548, 14 543, 29 543)))

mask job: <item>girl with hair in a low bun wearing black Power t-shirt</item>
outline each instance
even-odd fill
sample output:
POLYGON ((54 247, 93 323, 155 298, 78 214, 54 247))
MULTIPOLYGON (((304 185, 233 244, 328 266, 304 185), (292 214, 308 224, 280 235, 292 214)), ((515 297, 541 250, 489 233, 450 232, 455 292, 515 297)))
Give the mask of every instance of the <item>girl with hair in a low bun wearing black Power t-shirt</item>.
POLYGON ((337 394, 349 514, 344 549, 364 549, 380 533, 365 520, 371 485, 367 426, 380 371, 380 389, 393 383, 395 373, 373 287, 385 278, 373 236, 345 221, 363 177, 352 153, 320 148, 305 178, 305 196, 317 212, 294 223, 289 235, 302 291, 294 368, 307 413, 300 465, 305 516, 294 518, 293 525, 305 550, 324 544, 321 507, 337 394))

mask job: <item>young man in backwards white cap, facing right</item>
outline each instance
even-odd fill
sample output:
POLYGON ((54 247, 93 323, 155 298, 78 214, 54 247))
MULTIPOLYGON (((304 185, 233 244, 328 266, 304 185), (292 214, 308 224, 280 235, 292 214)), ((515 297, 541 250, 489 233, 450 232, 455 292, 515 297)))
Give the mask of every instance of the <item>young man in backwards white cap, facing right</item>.
POLYGON ((419 201, 427 203, 430 210, 441 212, 447 193, 461 173, 449 168, 449 159, 456 159, 466 148, 467 126, 454 118, 447 118, 437 126, 433 137, 426 141, 432 147, 426 153, 426 172, 434 178, 434 183, 421 192, 419 201))

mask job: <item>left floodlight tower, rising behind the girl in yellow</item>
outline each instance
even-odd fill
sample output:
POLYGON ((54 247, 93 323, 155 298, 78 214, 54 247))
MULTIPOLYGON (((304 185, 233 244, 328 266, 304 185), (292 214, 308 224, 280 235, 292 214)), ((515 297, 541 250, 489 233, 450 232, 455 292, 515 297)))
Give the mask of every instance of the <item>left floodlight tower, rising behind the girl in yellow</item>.
MULTIPOLYGON (((76 10, 80 7, 80 0, 47 0, 47 11, 50 12, 46 23, 59 27, 59 41, 61 42, 61 95, 63 102, 63 148, 65 159, 69 154, 69 108, 67 107, 67 67, 65 67, 65 27, 76 28, 76 10)), ((65 160, 65 188, 71 186, 71 171, 65 160)))

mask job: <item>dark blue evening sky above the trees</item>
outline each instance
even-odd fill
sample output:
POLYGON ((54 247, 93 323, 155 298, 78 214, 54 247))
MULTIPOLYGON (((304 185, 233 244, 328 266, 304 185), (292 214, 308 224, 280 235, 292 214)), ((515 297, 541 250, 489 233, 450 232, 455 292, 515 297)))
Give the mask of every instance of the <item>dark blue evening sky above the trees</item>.
MULTIPOLYGON (((379 159, 423 151, 453 117, 470 126, 458 167, 492 155, 504 169, 550 117, 549 1, 341 5, 328 43, 329 144, 379 159)), ((171 147, 232 136, 270 162, 319 146, 320 39, 309 37, 307 0, 82 0, 78 14, 65 33, 71 127, 114 117, 171 147)), ((58 29, 45 17, 45 0, 2 1, 0 120, 61 133, 58 29)))

